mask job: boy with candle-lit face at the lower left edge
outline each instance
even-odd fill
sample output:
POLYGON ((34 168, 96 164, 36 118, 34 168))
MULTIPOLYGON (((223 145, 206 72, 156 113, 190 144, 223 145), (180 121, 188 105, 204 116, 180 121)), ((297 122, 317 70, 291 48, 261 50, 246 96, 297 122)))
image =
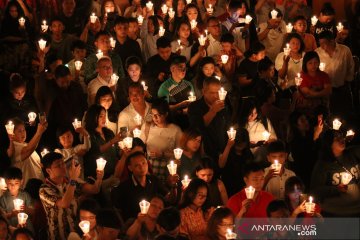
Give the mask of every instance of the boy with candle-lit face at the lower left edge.
POLYGON ((10 226, 14 228, 18 227, 18 213, 26 213, 29 215, 26 221, 26 228, 33 231, 34 228, 31 222, 31 216, 34 213, 33 203, 30 195, 21 188, 23 184, 21 170, 17 167, 10 167, 6 170, 4 177, 8 190, 0 197, 0 209, 5 213, 10 226), (24 204, 20 207, 21 210, 15 210, 14 199, 24 201, 24 204))

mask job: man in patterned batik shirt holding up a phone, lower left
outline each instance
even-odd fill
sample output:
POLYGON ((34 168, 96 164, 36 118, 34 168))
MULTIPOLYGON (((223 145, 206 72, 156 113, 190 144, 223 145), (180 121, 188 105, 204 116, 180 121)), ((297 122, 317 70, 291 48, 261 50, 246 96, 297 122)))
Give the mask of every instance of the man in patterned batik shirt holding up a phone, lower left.
POLYGON ((94 184, 80 182, 81 167, 72 165, 66 172, 66 165, 60 153, 47 153, 41 161, 46 176, 45 183, 39 190, 47 222, 48 239, 65 240, 74 231, 74 219, 77 209, 77 198, 80 193, 97 194, 100 191, 103 171, 97 171, 94 184), (66 177, 68 174, 69 177, 66 177))

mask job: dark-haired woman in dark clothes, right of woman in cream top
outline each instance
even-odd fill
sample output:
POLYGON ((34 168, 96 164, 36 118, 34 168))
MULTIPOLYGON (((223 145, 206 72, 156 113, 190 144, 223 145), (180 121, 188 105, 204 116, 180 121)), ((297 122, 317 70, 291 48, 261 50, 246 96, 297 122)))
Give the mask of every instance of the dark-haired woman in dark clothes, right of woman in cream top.
POLYGON ((189 177, 195 172, 199 159, 202 154, 201 149, 202 136, 199 130, 189 128, 181 136, 180 148, 183 149, 183 154, 180 159, 179 176, 189 177))

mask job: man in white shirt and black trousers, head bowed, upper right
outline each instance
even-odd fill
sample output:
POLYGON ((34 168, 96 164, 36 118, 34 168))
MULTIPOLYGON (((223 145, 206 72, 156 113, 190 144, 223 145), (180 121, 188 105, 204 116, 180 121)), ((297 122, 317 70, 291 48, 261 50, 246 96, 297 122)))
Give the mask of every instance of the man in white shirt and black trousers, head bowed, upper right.
POLYGON ((347 116, 352 109, 350 82, 354 79, 354 61, 350 49, 335 42, 330 31, 319 34, 320 47, 315 51, 320 62, 326 64, 325 72, 329 74, 332 93, 330 95, 330 111, 334 115, 347 116))

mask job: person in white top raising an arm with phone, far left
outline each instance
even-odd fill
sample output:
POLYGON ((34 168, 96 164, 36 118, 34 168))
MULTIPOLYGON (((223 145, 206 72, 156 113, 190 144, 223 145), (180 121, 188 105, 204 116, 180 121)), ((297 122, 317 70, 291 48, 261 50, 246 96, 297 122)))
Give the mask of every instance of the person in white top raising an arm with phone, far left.
POLYGON ((29 143, 26 143, 25 123, 19 118, 12 119, 12 122, 14 124, 14 135, 9 136, 10 146, 8 148, 8 156, 11 157, 12 166, 18 167, 22 171, 24 185, 30 178, 44 179, 41 171, 40 156, 35 149, 48 123, 40 121, 35 135, 29 143))

